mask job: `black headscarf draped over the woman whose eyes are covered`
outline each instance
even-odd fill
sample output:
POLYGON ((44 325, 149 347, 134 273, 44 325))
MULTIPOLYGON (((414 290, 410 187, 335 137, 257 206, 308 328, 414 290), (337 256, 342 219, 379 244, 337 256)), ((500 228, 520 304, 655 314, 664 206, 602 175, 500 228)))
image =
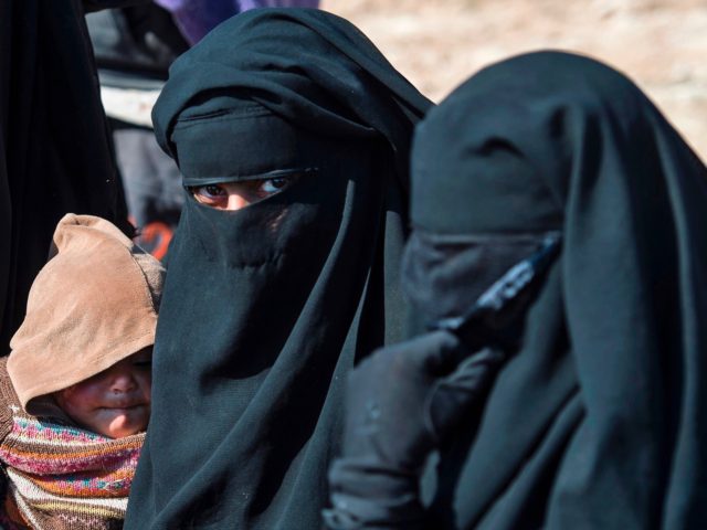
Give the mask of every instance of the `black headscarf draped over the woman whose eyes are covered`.
POLYGON ((455 285, 471 304, 534 239, 562 239, 478 431, 442 458, 434 528, 705 528, 698 158, 624 76, 544 52, 457 88, 412 167, 405 289, 423 320, 457 312, 455 285))

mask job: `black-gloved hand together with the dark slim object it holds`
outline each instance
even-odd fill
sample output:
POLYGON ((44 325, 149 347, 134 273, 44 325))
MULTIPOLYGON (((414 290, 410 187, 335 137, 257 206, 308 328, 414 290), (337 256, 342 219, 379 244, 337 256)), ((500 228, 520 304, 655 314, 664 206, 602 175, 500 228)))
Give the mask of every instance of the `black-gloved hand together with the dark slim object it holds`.
POLYGON ((548 234, 465 315, 376 351, 351 372, 342 457, 329 473, 329 528, 423 528, 420 470, 517 350, 535 287, 559 246, 559 235, 548 234))

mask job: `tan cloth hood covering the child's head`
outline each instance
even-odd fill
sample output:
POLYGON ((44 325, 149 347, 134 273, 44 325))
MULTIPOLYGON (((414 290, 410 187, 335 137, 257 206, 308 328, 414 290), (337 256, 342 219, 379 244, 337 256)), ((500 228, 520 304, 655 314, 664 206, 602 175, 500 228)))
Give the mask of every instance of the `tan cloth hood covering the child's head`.
POLYGON ((155 342, 165 268, 108 221, 70 213, 54 232, 8 372, 25 412, 155 342))

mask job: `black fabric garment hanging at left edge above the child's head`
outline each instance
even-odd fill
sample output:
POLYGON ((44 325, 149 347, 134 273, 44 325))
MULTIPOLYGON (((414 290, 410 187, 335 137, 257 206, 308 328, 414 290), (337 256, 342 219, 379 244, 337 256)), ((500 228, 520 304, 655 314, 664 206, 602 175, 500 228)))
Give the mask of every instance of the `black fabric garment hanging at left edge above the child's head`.
POLYGON ((3 1, 0 354, 9 351, 30 285, 67 212, 99 215, 128 230, 83 7, 75 0, 3 1))

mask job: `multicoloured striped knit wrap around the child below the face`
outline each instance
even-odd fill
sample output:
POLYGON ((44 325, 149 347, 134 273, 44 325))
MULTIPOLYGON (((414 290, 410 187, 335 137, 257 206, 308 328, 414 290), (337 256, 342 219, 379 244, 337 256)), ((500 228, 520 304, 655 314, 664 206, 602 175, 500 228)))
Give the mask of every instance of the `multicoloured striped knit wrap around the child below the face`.
POLYGON ((0 462, 9 479, 0 527, 122 528, 145 434, 112 439, 39 420, 8 384, 0 373, 0 462))

